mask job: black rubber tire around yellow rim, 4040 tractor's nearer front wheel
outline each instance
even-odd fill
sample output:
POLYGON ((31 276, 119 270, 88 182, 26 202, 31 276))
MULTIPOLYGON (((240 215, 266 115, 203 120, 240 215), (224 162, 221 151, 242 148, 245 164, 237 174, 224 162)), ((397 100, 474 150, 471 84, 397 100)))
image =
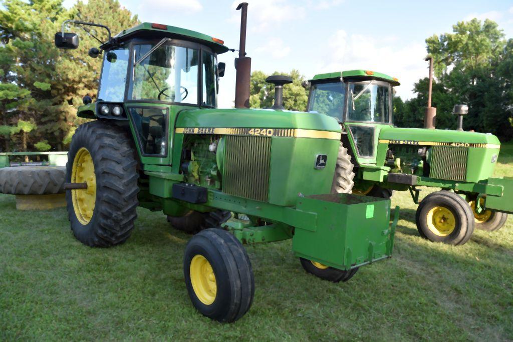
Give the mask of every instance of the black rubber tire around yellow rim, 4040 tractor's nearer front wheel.
POLYGON ((417 208, 415 222, 417 224, 417 230, 423 238, 432 242, 442 242, 455 246, 464 245, 472 236, 475 228, 474 215, 466 200, 456 193, 445 190, 432 192, 422 199, 417 208), (458 230, 455 229, 455 231, 447 236, 438 236, 429 231, 429 228, 427 228, 425 224, 427 213, 424 208, 427 207, 427 210, 430 210, 429 207, 433 206, 433 204, 434 206, 451 206, 452 209, 456 211, 455 214, 453 210, 451 210, 453 214, 455 214, 457 222, 460 224, 458 230))

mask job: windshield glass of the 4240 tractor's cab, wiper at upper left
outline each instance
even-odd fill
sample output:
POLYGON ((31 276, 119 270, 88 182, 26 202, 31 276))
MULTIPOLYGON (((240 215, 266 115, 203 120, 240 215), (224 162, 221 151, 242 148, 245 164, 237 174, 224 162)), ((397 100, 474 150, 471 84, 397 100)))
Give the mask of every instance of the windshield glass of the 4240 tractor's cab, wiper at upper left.
POLYGON ((193 105, 201 100, 202 106, 216 106, 217 76, 213 53, 155 43, 133 45, 133 54, 129 100, 193 105))

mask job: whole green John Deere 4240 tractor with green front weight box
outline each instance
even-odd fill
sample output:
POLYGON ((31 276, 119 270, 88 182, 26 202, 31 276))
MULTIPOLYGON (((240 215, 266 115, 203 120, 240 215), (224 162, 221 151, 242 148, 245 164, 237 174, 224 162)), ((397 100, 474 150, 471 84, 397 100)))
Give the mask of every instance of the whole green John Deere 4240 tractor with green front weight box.
MULTIPOLYGON (((241 4, 235 104, 249 101, 245 56, 247 4, 241 4)), ((99 24, 74 22, 108 29, 99 24)), ((55 34, 76 49, 78 36, 55 34)), ((196 233, 184 252, 190 299, 219 321, 241 318, 254 295, 243 244, 292 239, 306 272, 346 281, 392 253, 398 209, 390 200, 332 193, 341 132, 337 119, 280 109, 217 109, 217 55, 211 36, 143 23, 110 37, 95 102, 77 115, 93 119, 73 135, 66 172, 71 230, 83 244, 110 247, 132 233, 136 208, 163 211, 177 229, 196 233)))

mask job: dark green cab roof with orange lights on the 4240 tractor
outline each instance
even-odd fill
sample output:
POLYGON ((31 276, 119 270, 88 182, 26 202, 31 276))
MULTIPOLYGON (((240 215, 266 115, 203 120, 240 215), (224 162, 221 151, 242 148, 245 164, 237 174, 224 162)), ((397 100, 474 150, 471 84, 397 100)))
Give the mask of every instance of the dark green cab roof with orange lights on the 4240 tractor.
POLYGON ((121 31, 116 34, 114 38, 117 41, 125 41, 133 36, 179 38, 206 45, 216 53, 224 53, 228 51, 228 48, 224 46, 224 42, 221 39, 213 38, 200 32, 183 29, 181 27, 154 23, 142 23, 136 25, 130 29, 121 31))

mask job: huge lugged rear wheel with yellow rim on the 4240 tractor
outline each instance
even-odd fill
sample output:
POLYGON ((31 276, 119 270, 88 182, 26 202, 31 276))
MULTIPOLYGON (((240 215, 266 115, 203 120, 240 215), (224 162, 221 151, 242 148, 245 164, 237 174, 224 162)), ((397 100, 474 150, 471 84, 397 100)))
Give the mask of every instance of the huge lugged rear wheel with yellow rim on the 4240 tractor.
POLYGON ((85 190, 66 191, 74 236, 90 247, 124 243, 137 217, 135 151, 128 134, 101 121, 81 125, 71 140, 67 183, 86 183, 85 190))

